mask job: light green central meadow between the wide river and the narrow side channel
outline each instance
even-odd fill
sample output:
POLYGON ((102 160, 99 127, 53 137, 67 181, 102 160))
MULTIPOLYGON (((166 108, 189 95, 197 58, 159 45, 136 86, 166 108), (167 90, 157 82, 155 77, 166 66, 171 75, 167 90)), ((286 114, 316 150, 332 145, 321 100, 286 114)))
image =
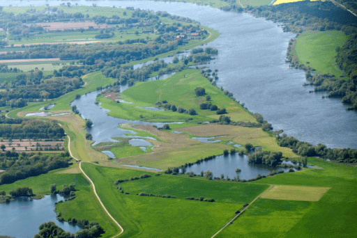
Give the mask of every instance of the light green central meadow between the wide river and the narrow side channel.
MULTIPOLYGON (((220 109, 226 108, 228 113, 242 113, 245 111, 241 106, 224 95, 221 90, 203 77, 199 70, 183 70, 174 74, 172 77, 157 81, 136 82, 135 86, 128 88, 121 93, 121 97, 126 102, 133 102, 132 104, 116 103, 105 97, 99 97, 99 102, 106 109, 109 109, 110 116, 120 117, 130 120, 185 120, 193 118, 195 120, 211 120, 209 117, 216 116, 215 111, 201 110, 199 104, 206 103, 206 97, 197 97, 195 95, 195 88, 202 87, 206 90, 206 95, 211 96, 211 103, 216 104, 220 109), (173 111, 151 111, 141 109, 138 107, 153 106, 156 102, 167 100, 169 104, 174 104, 178 108, 195 109, 196 116, 190 116, 187 113, 179 113, 173 111)), ((243 120, 246 120, 247 115, 243 120)), ((248 120, 254 120, 248 114, 248 120)))

